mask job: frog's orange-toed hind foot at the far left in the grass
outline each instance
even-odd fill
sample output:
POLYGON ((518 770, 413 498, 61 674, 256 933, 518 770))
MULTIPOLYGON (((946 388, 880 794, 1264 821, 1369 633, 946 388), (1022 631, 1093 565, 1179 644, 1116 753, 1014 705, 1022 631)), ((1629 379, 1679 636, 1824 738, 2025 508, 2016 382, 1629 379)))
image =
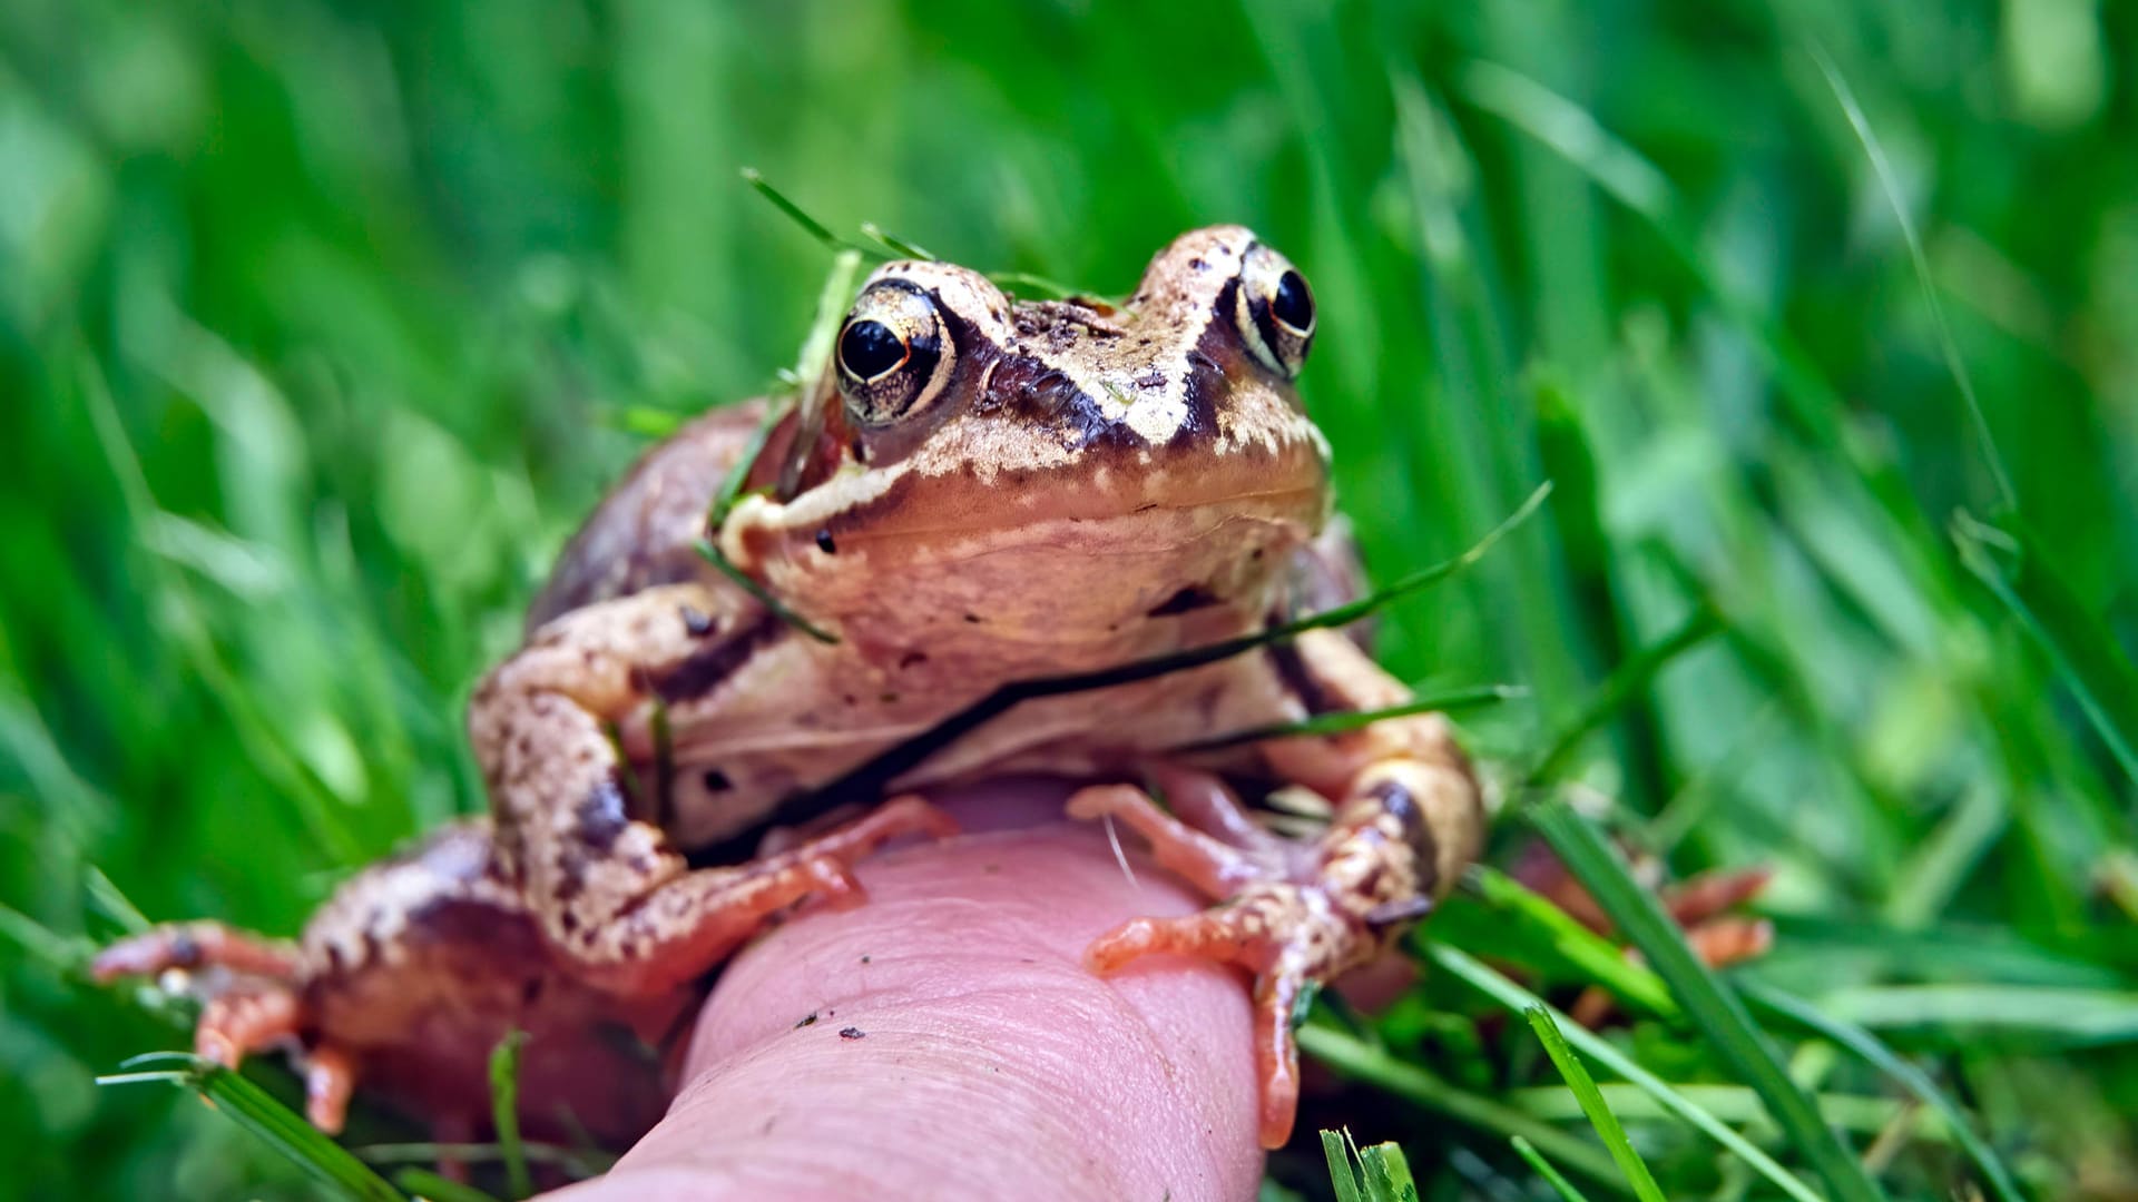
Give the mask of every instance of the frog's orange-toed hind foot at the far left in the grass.
MULTIPOLYGON (((220 922, 177 922, 105 947, 90 962, 90 975, 100 984, 165 977, 165 988, 199 997, 192 1050, 235 1069, 246 1057, 299 1046, 312 1014, 297 984, 297 947, 280 939, 220 922)), ((323 1131, 340 1131, 355 1087, 353 1059, 323 1044, 301 1052, 301 1067, 306 1116, 323 1131)))

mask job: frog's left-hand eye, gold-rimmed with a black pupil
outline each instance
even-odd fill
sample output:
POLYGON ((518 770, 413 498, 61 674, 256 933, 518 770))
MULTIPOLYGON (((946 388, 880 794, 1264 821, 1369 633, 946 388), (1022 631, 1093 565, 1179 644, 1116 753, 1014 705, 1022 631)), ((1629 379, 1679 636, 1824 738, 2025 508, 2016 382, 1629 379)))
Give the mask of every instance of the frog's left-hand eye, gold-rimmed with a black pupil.
POLYGON ((934 297, 909 280, 877 280, 838 332, 838 391, 862 426, 889 426, 943 391, 951 357, 934 297))

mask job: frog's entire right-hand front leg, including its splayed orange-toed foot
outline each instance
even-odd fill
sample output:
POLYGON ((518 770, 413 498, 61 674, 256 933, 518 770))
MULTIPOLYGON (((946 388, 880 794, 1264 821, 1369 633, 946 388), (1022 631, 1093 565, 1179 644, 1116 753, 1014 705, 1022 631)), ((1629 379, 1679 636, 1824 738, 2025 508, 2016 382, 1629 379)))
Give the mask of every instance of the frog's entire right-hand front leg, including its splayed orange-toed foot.
MULTIPOLYGON (((1336 708, 1373 710, 1407 699, 1358 646, 1330 631, 1298 639, 1315 693, 1336 708)), ((1308 984, 1373 960, 1432 909, 1477 856, 1484 811, 1469 764, 1439 714, 1362 731, 1272 740, 1264 759, 1289 783, 1334 802, 1321 838, 1304 845, 1249 834, 1234 806, 1206 793, 1197 806, 1159 811, 1140 789, 1101 785, 1071 798, 1075 817, 1112 815, 1150 838, 1161 864, 1223 905, 1187 918, 1140 918, 1086 952, 1107 973, 1150 954, 1223 960, 1255 973, 1255 1059, 1261 1142, 1281 1146, 1298 1112, 1291 1014, 1308 984)), ((1161 776, 1172 796, 1193 776, 1161 776)))

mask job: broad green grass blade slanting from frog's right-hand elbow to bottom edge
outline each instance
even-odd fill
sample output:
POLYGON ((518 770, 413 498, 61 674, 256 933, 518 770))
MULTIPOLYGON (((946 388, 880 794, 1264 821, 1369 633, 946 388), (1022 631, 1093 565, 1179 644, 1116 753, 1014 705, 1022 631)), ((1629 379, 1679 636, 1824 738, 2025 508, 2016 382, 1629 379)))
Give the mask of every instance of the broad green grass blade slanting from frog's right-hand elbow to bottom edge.
POLYGON ((1819 1170, 1843 1202, 1884 1198, 1862 1161, 1819 1119, 1817 1106, 1790 1080, 1775 1048, 1753 1024, 1745 1003, 1685 945, 1678 924, 1663 913, 1618 853, 1571 806, 1548 800, 1529 808, 1529 821, 1544 834, 1567 870, 1589 890, 1616 928, 1648 958, 1685 1007, 1685 1016, 1713 1044, 1725 1065, 1766 1101, 1783 1136, 1819 1170))

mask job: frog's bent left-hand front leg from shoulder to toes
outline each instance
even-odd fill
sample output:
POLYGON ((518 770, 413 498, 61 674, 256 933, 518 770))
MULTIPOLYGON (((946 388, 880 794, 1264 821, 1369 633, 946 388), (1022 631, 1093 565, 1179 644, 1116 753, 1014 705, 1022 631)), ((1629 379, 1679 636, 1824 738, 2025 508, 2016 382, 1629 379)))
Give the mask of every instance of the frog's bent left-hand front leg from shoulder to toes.
POLYGON ((656 586, 573 610, 483 680, 468 727, 498 849, 552 945, 624 995, 703 975, 780 909, 857 892, 849 868, 892 838, 954 823, 917 798, 750 864, 693 870, 648 815, 616 731, 708 697, 772 639, 795 637, 738 590, 656 586))

